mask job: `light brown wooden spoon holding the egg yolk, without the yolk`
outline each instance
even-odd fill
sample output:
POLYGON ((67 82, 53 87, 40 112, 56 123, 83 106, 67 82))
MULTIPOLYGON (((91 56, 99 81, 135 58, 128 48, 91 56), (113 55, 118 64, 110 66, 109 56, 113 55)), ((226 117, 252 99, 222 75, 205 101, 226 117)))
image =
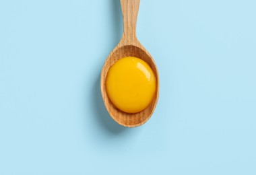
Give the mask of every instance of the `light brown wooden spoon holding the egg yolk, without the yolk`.
POLYGON ((121 7, 123 11, 123 37, 106 59, 100 79, 101 94, 106 110, 108 110, 108 113, 116 122, 125 127, 138 127, 150 119, 150 116, 152 116, 154 109, 156 108, 159 94, 159 77, 156 63, 150 53, 139 43, 136 36, 139 1, 140 0, 121 0, 121 7), (119 110, 113 105, 106 93, 106 75, 108 73, 108 69, 110 69, 116 61, 124 57, 137 57, 146 61, 156 76, 156 94, 151 104, 146 109, 135 114, 129 114, 119 110))

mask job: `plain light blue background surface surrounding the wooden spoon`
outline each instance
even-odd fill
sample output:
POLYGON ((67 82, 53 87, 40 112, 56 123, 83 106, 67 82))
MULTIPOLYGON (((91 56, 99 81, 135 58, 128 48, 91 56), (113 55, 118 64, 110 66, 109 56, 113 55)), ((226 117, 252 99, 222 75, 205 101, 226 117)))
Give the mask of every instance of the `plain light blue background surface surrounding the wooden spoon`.
POLYGON ((100 95, 119 0, 1 0, 0 174, 256 174, 255 9, 141 0, 160 98, 126 129, 100 95))

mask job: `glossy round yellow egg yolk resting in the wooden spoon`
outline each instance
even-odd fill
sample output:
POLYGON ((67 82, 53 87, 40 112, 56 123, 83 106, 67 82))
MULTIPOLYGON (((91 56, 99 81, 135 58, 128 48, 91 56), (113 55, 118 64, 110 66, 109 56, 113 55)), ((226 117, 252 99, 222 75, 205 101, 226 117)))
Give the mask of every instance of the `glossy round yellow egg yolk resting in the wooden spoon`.
POLYGON ((106 76, 106 92, 119 110, 141 112, 154 98, 156 77, 145 61, 125 57, 110 67, 106 76))

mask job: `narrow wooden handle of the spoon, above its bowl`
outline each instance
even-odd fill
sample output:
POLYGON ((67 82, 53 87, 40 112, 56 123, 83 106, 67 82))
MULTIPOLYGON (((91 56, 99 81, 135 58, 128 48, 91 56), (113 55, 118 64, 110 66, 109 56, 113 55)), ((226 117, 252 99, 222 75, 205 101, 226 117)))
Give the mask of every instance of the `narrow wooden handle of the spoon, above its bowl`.
POLYGON ((137 41, 136 23, 140 0, 121 0, 123 11, 123 37, 122 44, 133 44, 137 41))

